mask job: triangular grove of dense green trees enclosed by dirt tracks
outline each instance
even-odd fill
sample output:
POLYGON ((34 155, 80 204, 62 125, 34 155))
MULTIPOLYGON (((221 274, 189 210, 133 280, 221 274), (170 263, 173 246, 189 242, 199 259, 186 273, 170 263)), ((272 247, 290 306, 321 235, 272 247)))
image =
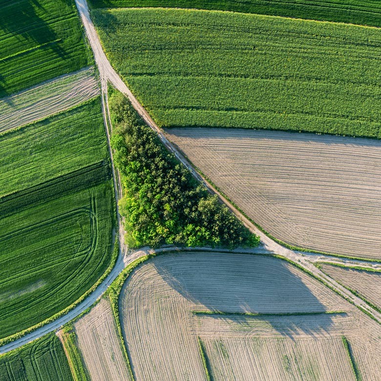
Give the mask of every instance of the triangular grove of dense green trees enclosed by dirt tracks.
POLYGON ((125 192, 120 213, 130 247, 258 244, 259 238, 191 176, 115 90, 110 110, 114 162, 125 192))

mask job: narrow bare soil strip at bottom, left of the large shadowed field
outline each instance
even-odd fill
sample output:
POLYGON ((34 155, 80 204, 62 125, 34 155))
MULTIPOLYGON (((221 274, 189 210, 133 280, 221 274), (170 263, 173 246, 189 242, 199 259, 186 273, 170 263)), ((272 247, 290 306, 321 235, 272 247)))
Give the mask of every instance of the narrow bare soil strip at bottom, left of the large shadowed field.
POLYGON ((130 380, 108 299, 102 299, 74 327, 91 380, 130 380))

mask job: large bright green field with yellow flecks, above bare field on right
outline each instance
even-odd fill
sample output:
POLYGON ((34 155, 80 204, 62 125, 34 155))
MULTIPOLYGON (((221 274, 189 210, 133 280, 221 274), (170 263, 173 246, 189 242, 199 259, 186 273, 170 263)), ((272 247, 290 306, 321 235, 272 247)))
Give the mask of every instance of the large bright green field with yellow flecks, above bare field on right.
POLYGON ((160 127, 381 136, 377 28, 159 8, 92 15, 160 127))

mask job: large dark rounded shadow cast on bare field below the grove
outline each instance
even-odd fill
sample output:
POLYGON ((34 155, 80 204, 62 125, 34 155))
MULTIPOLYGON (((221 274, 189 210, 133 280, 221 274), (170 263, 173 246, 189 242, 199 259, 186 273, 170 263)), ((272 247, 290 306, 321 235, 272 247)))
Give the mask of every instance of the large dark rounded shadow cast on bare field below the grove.
MULTIPOLYGON (((296 333, 321 334, 332 326, 326 307, 314 295, 318 289, 322 298, 331 291, 321 287, 314 293, 299 270, 272 257, 250 254, 177 254, 166 264, 166 257, 154 260, 158 274, 176 292, 190 302, 201 319, 222 319, 233 330, 250 332, 265 325, 292 337, 296 333), (300 275, 299 275, 300 272, 300 275), (296 275, 297 274, 297 275, 296 275), (223 312, 224 314, 219 314, 223 312), (266 314, 248 316, 243 314, 266 314), (295 314, 279 316, 279 314, 295 314)), ((329 296, 328 296, 329 300, 329 296)))

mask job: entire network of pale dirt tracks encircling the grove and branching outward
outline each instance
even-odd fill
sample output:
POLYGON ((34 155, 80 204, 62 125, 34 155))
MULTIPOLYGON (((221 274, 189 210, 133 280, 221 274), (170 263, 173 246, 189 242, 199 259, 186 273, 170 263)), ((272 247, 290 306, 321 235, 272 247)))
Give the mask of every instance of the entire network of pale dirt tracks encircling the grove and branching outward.
MULTIPOLYGON (((110 148, 110 136, 109 131, 111 129, 110 123, 109 123, 109 113, 108 113, 108 104, 107 104, 107 81, 109 81, 112 85, 114 85, 119 91, 127 95, 129 98, 132 106, 136 109, 136 111, 139 113, 139 115, 144 119, 144 121, 147 123, 149 127, 151 127, 158 135, 162 143, 174 153, 174 155, 178 158, 178 160, 181 161, 181 163, 192 173, 192 175, 199 181, 201 181, 212 193, 215 193, 219 196, 222 202, 224 202, 228 208, 244 223, 244 225, 254 234, 258 235, 262 241, 262 248, 257 248, 254 250, 250 250, 248 252, 256 253, 256 254, 266 254, 266 253, 272 253, 277 254, 278 256, 292 261, 296 263, 297 266, 301 267, 305 271, 309 272, 315 278, 323 282, 325 285, 330 287, 332 290, 337 292, 339 295, 346 298, 348 301, 350 301, 352 304, 360 308, 360 310, 365 311, 368 315, 370 315, 374 320, 376 320, 379 324, 381 324, 381 314, 376 311, 374 308, 369 306, 366 302, 364 302, 362 299, 354 295, 352 292, 341 286, 336 280, 331 278, 328 275, 325 275, 323 272, 321 272, 317 267, 314 266, 314 262, 317 261, 325 261, 325 262, 340 262, 343 264, 348 264, 352 266, 359 265, 358 261, 351 261, 346 260, 344 258, 334 258, 330 256, 320 255, 320 254, 309 254, 309 253, 300 253, 296 252, 290 249, 287 249, 278 243, 276 243, 273 239, 268 237, 266 234, 262 233, 259 229, 255 227, 255 225, 247 219, 241 212, 239 212, 229 200, 227 200, 219 191, 217 191, 211 184, 208 183, 208 181, 201 176, 191 165, 191 163, 182 155, 182 153, 175 148, 169 140, 165 137, 163 131, 160 130, 159 127, 155 124, 155 122, 152 120, 152 118, 148 115, 148 112, 144 109, 142 105, 137 101, 135 96, 131 93, 131 91, 128 89, 127 85, 122 81, 120 76, 117 74, 117 72, 113 69, 111 64, 109 63, 106 54, 103 51, 101 42, 99 40, 99 36, 95 30, 95 27, 90 19, 88 7, 86 0, 75 0, 77 4, 77 8, 79 11, 79 14, 81 16, 82 22, 85 26, 85 32, 87 35, 87 38, 90 42, 91 48, 94 53, 95 62, 98 66, 100 78, 101 78, 101 88, 102 88, 102 106, 103 106, 103 114, 104 114, 104 121, 106 126, 106 134, 107 134, 107 141, 110 151, 110 157, 112 162, 112 171, 113 171, 113 180, 114 180, 114 189, 115 189, 115 197, 118 200, 121 195, 121 189, 119 184, 119 174, 115 172, 114 165, 113 165, 113 157, 112 157, 112 151, 110 148)), ((117 207, 118 208, 118 207, 117 207)), ((19 348, 22 345, 41 338, 43 335, 46 335, 49 332, 55 331, 59 329, 63 324, 66 324, 67 322, 71 321, 72 319, 76 318, 78 315, 80 315, 83 311, 85 311, 88 307, 90 307, 99 297, 101 297, 108 286, 112 283, 112 281, 122 272, 122 270, 130 264, 133 260, 148 254, 148 251, 140 250, 133 254, 130 254, 128 256, 125 256, 126 248, 124 246, 124 229, 123 225, 120 221, 119 213, 117 210, 117 216, 118 216, 118 225, 119 225, 119 239, 121 243, 121 250, 119 253, 119 257, 117 259, 117 262, 112 269, 111 273, 106 277, 106 279, 101 283, 100 286, 97 287, 97 289, 92 292, 82 303, 80 303, 78 306, 76 306, 74 309, 69 311, 66 315, 64 315, 61 318, 58 318, 54 320, 51 323, 48 323, 41 328, 23 336, 20 339, 17 339, 9 344, 3 345, 0 347, 0 354, 9 352, 13 349, 19 348)), ((200 248, 202 249, 202 248, 200 248)), ((161 249, 157 250, 156 252, 163 252, 163 251, 170 251, 173 250, 173 248, 168 249, 161 249)), ((204 250, 213 251, 208 248, 204 248, 204 250)), ((221 251, 221 250, 218 250, 221 251)), ((366 262, 360 262, 361 266, 373 268, 373 269, 380 269, 380 264, 367 264, 366 262)))

